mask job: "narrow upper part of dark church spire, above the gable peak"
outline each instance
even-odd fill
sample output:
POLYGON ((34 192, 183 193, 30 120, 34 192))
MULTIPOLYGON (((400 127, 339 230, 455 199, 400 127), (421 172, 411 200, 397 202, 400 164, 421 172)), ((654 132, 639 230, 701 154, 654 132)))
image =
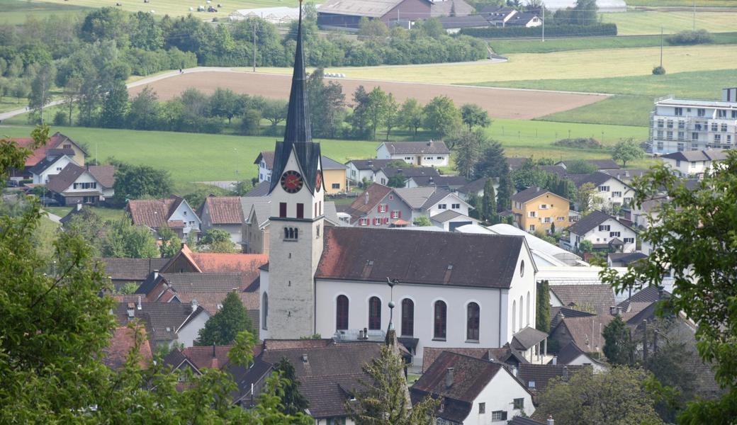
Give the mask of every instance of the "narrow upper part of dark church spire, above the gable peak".
POLYGON ((297 51, 294 57, 292 92, 289 96, 287 130, 284 144, 309 143, 312 141, 310 105, 307 103, 307 74, 304 71, 304 49, 302 43, 302 1, 299 1, 299 25, 297 29, 297 51))

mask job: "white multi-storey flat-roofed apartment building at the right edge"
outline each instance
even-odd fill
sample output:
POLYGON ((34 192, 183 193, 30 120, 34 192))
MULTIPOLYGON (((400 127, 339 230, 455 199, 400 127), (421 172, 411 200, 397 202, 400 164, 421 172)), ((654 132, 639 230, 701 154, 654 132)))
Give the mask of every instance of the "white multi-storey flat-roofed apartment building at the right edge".
POLYGON ((737 88, 725 88, 722 101, 657 99, 650 114, 653 153, 733 149, 737 143, 737 88))

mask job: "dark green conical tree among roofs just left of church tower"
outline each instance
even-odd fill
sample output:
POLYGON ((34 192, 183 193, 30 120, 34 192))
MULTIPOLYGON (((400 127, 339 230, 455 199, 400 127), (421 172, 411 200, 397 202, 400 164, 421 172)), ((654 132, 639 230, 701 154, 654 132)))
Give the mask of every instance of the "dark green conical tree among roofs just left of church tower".
POLYGON ((228 345, 234 343, 240 332, 255 333, 251 317, 248 317, 243 303, 236 292, 228 292, 223 300, 223 308, 200 329, 195 345, 228 345))

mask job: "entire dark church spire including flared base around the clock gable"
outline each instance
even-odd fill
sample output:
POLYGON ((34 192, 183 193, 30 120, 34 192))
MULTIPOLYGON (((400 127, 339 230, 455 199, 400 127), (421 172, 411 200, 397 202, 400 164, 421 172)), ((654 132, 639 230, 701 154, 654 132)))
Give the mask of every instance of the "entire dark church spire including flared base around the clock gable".
POLYGON ((318 185, 318 181, 321 182, 321 178, 318 178, 318 172, 321 169, 320 144, 312 143, 310 104, 307 101, 307 74, 304 71, 304 41, 302 38, 302 2, 300 1, 297 49, 294 56, 292 91, 289 96, 289 110, 287 111, 287 128, 284 131, 284 141, 276 142, 269 193, 273 192, 279 184, 292 153, 294 153, 298 164, 298 172, 304 177, 304 186, 307 190, 311 193, 320 190, 315 187, 318 185))

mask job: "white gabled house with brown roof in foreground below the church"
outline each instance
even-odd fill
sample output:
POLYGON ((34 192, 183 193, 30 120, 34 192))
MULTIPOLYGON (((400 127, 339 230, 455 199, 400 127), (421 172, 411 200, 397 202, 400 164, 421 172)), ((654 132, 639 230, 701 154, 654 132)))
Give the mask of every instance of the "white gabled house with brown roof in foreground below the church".
POLYGON ((532 415, 532 393, 501 362, 443 351, 413 384, 413 403, 440 399, 438 424, 506 423, 532 415), (442 422, 441 422, 442 421, 442 422))

